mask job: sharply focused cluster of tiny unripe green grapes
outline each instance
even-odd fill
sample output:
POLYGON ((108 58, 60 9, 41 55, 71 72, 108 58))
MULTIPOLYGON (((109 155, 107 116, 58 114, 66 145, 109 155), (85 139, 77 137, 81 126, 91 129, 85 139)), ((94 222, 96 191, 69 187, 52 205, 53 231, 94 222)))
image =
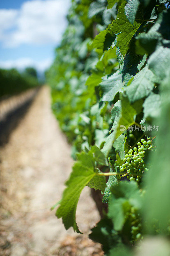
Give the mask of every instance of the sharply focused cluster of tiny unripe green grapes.
POLYGON ((140 182, 141 174, 149 171, 145 167, 144 154, 146 150, 152 148, 151 138, 148 138, 148 140, 141 139, 141 142, 137 142, 137 147, 129 149, 128 154, 123 159, 124 163, 120 166, 120 172, 127 172, 127 179, 130 181, 140 182))

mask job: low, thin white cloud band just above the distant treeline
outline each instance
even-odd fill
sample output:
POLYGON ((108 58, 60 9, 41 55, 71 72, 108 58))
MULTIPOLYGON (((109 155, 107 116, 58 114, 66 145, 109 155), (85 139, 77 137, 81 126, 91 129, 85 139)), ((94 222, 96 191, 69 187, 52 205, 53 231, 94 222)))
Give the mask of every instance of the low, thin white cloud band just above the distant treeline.
POLYGON ((39 72, 44 72, 52 64, 52 59, 44 59, 35 61, 31 58, 19 58, 17 60, 0 61, 0 68, 17 68, 23 70, 26 67, 35 67, 39 72))

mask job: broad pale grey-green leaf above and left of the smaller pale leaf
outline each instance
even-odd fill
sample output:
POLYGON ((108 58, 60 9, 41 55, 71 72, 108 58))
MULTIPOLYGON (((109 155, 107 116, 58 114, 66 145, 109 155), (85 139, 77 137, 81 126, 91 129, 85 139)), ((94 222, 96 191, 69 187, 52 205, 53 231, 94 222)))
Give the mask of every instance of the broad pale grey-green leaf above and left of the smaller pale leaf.
POLYGON ((134 76, 131 84, 125 89, 129 101, 133 103, 148 96, 154 88, 155 81, 155 75, 148 69, 148 66, 145 66, 136 76, 134 76))

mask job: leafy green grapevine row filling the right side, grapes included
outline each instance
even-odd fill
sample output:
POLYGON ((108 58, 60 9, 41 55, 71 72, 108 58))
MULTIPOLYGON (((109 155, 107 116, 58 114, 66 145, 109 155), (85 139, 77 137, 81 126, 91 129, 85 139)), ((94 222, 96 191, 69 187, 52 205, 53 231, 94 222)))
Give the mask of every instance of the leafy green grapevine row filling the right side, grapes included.
POLYGON ((80 232, 80 193, 99 189, 108 212, 90 238, 105 255, 132 255, 147 235, 169 238, 169 19, 169 1, 74 0, 47 72, 77 160, 56 216, 80 232))

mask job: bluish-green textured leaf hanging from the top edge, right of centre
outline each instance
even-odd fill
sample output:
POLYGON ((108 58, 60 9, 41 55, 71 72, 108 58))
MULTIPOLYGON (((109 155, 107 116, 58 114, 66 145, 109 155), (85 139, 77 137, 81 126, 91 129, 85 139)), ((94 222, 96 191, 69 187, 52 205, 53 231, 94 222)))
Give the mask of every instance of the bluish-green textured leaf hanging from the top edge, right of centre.
POLYGON ((139 4, 138 0, 128 0, 128 3, 125 6, 126 17, 132 25, 134 24, 139 4))

